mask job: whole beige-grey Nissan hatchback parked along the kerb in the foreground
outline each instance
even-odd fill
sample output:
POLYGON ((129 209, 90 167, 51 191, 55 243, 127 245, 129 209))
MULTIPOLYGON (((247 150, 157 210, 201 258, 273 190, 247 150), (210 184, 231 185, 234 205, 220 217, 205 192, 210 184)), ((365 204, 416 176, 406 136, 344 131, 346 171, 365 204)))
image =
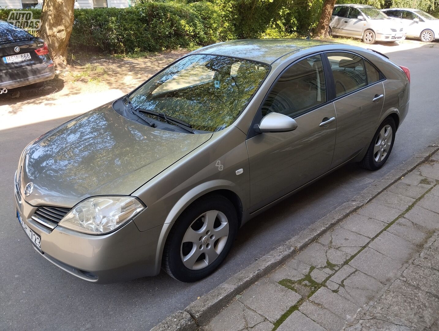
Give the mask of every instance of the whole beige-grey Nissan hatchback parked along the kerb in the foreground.
POLYGON ((240 226, 360 162, 380 168, 410 73, 372 51, 237 40, 194 51, 115 102, 31 142, 16 215, 43 257, 84 280, 200 280, 240 226))

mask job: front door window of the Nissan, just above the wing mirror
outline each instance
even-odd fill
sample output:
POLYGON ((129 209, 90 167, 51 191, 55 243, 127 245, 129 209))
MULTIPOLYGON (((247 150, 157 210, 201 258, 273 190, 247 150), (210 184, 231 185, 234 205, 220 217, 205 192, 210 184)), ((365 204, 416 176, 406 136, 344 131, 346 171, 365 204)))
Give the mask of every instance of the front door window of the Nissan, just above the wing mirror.
POLYGON ((325 102, 322 58, 317 55, 292 65, 282 74, 262 106, 262 115, 275 112, 295 117, 325 102))

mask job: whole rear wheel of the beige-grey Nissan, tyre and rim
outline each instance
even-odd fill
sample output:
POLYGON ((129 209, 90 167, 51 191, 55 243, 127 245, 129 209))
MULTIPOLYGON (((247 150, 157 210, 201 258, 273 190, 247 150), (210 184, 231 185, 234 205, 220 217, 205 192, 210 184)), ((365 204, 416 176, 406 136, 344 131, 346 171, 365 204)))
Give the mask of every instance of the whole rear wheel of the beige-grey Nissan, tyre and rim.
POLYGON ((378 170, 389 158, 392 152, 393 142, 395 142, 396 125, 392 117, 385 119, 378 127, 377 132, 372 139, 366 155, 360 162, 363 168, 369 170, 378 170))

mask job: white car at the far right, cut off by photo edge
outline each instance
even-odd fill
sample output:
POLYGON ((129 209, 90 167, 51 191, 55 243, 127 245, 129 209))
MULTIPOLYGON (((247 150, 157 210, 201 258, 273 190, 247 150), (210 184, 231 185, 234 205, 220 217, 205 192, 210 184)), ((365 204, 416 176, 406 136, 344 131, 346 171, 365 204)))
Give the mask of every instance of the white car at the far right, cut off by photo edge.
POLYGON ((400 18, 408 37, 429 43, 439 39, 439 19, 417 9, 390 8, 382 10, 390 18, 400 18))

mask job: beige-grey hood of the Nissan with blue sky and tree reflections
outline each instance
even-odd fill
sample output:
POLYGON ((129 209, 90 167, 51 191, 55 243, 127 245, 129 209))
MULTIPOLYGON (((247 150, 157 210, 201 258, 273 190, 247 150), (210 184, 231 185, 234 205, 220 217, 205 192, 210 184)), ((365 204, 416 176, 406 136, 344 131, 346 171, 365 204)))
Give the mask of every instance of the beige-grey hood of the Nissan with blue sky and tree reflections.
POLYGON ((87 196, 131 194, 211 137, 155 129, 101 106, 26 148, 22 186, 34 186, 25 200, 72 207, 87 196))

